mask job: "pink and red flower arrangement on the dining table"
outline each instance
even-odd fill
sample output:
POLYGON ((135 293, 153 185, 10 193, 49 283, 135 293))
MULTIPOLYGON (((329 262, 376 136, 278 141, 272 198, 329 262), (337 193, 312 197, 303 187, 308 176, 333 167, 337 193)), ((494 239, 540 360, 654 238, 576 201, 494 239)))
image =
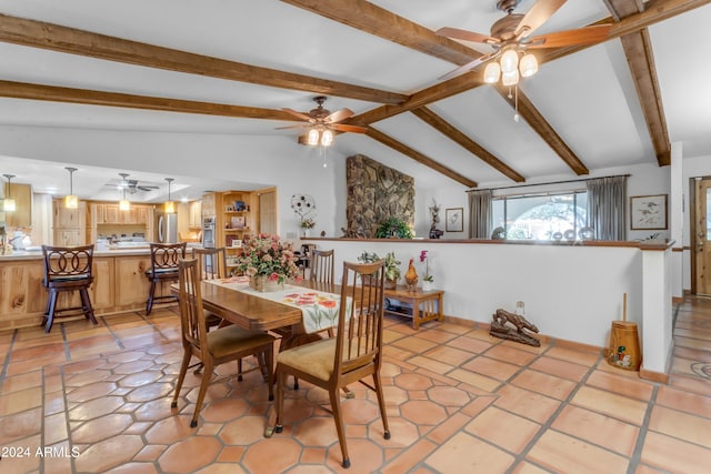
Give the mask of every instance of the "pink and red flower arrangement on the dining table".
POLYGON ((246 239, 237 268, 250 278, 250 286, 259 291, 280 290, 288 280, 301 281, 292 244, 282 242, 279 235, 259 234, 246 239))

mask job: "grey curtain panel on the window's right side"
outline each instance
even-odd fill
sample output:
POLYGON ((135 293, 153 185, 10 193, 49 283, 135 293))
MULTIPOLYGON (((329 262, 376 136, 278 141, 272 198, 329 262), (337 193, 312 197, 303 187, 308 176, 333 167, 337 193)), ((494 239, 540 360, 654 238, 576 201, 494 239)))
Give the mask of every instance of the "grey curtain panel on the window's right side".
POLYGON ((627 240, 627 177, 588 181, 588 225, 595 240, 627 240))

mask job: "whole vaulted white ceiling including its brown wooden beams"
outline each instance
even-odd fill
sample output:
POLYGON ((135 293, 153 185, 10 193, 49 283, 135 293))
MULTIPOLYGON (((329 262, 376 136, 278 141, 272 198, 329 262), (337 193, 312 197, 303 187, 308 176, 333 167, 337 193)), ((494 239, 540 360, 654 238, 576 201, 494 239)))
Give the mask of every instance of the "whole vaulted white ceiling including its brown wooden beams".
POLYGON ((0 124, 296 145, 282 109, 323 94, 367 128, 336 138, 343 154, 384 149, 469 188, 668 165, 671 142, 711 155, 710 2, 569 0, 537 33, 610 23, 608 37, 539 49, 514 97, 483 68, 438 79, 491 50, 434 31, 488 34, 495 0, 0 0, 0 124))

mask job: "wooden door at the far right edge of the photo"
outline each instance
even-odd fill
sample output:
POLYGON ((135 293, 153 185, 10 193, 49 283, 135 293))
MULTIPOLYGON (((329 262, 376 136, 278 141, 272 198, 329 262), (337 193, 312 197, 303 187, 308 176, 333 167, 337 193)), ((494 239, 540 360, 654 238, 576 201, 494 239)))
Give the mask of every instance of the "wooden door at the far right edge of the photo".
POLYGON ((691 179, 691 292, 711 296, 711 177, 691 179))

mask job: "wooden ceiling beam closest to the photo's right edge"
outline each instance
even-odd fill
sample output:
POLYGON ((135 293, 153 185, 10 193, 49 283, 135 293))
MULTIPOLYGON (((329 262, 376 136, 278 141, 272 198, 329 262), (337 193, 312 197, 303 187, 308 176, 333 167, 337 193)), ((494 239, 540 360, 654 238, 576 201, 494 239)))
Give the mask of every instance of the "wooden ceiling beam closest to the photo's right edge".
MULTIPOLYGON (((643 3, 639 1, 605 0, 605 4, 617 21, 622 21, 644 10, 643 3)), ((657 79, 654 53, 649 38, 649 30, 643 28, 624 34, 620 38, 620 41, 632 72, 634 89, 637 89, 637 95, 642 107, 657 162, 660 167, 669 165, 671 164, 671 143, 669 141, 667 119, 664 118, 661 90, 657 79)))

